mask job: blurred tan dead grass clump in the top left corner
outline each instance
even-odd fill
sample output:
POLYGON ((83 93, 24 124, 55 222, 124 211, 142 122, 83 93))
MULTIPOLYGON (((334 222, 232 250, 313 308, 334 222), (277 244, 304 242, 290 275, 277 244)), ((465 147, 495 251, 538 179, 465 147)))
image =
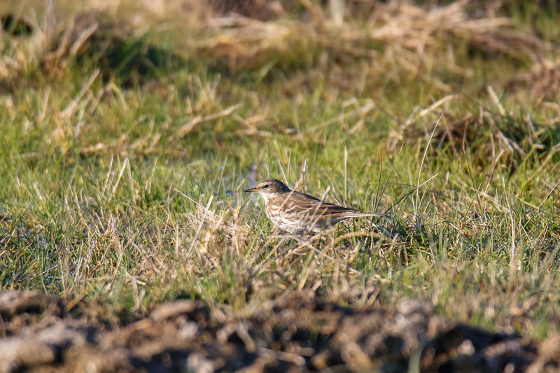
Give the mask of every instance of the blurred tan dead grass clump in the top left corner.
MULTIPOLYGON (((0 29, 0 80, 13 80, 36 69, 64 71, 80 55, 103 60, 115 45, 138 40, 156 45, 158 41, 145 40, 148 34, 193 24, 204 10, 197 1, 86 1, 80 6, 72 1, 46 1, 29 8, 2 6, 0 15, 24 21, 29 34, 15 36, 0 29)), ((141 58, 147 58, 145 52, 138 51, 141 58)))

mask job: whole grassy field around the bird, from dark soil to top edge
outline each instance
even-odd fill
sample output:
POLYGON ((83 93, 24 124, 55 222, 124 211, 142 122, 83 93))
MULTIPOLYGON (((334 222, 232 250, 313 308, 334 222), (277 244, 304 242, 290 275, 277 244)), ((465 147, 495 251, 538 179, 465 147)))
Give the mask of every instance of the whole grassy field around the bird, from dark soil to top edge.
POLYGON ((199 3, 2 6, 2 289, 558 332, 555 1, 199 3), (391 217, 274 232, 242 192, 267 177, 391 217))

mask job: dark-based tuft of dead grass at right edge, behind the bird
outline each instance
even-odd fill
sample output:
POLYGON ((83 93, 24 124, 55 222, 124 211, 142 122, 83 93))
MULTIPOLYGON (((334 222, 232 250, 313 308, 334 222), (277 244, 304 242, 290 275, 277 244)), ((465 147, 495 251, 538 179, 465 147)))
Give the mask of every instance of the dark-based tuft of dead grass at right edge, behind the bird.
MULTIPOLYGON (((519 164, 529 154, 535 153, 540 159, 540 167, 556 162, 560 152, 560 134, 554 122, 533 122, 531 115, 523 115, 521 120, 507 115, 492 87, 487 87, 493 108, 479 107, 479 112, 468 113, 456 118, 440 108, 446 101, 444 97, 429 108, 416 110, 402 125, 393 129, 386 143, 387 150, 393 152, 398 143, 426 143, 431 139, 431 151, 437 155, 442 149, 451 151, 456 157, 467 149, 475 163, 519 164), (441 120, 433 121, 429 114, 439 113, 441 120)), ((511 171, 514 172, 516 167, 511 171)))

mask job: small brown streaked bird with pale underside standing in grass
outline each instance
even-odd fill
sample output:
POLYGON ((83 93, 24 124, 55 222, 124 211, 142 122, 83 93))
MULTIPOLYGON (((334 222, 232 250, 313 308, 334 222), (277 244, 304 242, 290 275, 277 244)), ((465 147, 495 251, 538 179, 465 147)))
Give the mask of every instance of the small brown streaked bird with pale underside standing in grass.
POLYGON ((314 232, 340 220, 362 216, 386 216, 383 213, 362 213, 355 209, 330 204, 288 188, 275 178, 267 178, 245 192, 258 192, 265 199, 266 213, 272 223, 286 232, 314 232))

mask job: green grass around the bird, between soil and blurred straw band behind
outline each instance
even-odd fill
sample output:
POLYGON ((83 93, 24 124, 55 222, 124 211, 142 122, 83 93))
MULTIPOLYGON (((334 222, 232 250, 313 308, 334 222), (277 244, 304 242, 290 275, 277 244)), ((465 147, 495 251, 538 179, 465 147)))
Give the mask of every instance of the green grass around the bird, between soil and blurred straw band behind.
POLYGON ((342 304, 423 298, 491 330, 556 331, 557 97, 505 88, 528 59, 451 38, 470 78, 449 71, 444 48, 414 75, 302 36, 311 57, 232 68, 174 50, 173 32, 153 60, 131 37, 123 53, 143 58, 141 74, 97 71, 92 49, 3 82, 1 288, 138 314, 172 297, 243 313, 311 288, 342 304), (269 176, 392 216, 374 220, 382 229, 357 220, 311 241, 283 236, 242 192, 269 176))

